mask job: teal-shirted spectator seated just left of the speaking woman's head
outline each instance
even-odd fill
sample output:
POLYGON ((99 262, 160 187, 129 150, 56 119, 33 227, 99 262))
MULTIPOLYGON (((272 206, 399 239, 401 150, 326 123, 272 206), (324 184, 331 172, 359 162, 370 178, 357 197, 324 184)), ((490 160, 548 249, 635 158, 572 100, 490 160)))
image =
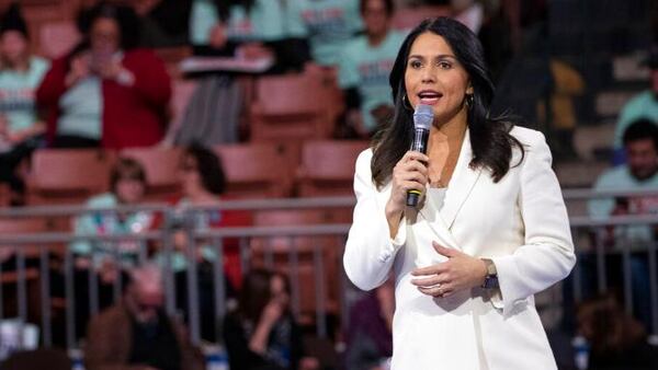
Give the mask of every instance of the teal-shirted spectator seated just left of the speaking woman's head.
POLYGON ((361 0, 365 35, 351 41, 339 63, 348 125, 370 138, 393 116, 388 74, 405 36, 390 30, 393 0, 361 0))

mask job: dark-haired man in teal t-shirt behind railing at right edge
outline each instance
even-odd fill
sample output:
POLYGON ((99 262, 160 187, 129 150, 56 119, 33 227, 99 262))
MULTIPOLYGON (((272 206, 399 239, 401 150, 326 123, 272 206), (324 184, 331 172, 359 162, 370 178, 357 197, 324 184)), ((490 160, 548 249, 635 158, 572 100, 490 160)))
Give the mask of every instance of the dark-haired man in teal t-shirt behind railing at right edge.
MULTIPOLYGON (((658 126, 640 119, 628 126, 623 137, 627 164, 604 172, 594 190, 656 190, 658 189, 658 126)), ((614 215, 658 215, 658 197, 631 196, 623 198, 597 198, 588 204, 593 219, 606 219, 614 215)), ((656 240, 656 229, 650 226, 628 226, 608 229, 606 243, 616 250, 631 248, 633 269, 633 299, 637 317, 650 323, 649 275, 647 245, 656 240)))

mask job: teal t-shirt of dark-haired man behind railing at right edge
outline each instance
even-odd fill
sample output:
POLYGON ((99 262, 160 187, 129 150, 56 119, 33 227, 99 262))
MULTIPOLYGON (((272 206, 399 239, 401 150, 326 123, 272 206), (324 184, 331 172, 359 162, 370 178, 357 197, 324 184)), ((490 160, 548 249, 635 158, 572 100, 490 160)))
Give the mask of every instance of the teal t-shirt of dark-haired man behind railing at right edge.
MULTIPOLYGON (((619 165, 604 172, 594 185, 594 190, 656 190, 658 189, 658 174, 645 181, 633 177, 627 165, 619 165)), ((640 197, 629 199, 632 213, 658 215, 658 198, 640 197), (640 208, 640 209, 636 209, 640 208)), ((594 198, 588 203, 588 213, 592 219, 604 220, 610 217, 615 208, 615 199, 594 198)), ((654 231, 649 226, 619 227, 615 229, 617 241, 647 242, 654 239, 654 231)))

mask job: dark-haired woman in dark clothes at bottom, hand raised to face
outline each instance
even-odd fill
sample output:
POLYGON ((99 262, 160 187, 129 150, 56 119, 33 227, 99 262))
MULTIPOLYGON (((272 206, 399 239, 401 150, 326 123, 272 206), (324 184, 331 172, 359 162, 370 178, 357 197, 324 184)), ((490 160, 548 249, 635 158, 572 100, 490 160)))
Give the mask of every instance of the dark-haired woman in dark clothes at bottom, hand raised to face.
POLYGON ((291 287, 281 274, 251 270, 238 307, 224 320, 231 369, 317 369, 304 358, 302 332, 290 309, 291 287))

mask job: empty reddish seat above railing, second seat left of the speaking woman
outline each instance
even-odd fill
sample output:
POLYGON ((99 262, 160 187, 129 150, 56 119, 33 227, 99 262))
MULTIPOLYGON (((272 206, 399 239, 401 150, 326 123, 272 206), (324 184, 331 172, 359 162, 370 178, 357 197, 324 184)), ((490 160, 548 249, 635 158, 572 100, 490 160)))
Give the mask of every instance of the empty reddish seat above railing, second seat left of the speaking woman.
POLYGON ((288 197, 292 173, 287 147, 276 143, 217 146, 226 173, 226 194, 234 198, 288 197))

